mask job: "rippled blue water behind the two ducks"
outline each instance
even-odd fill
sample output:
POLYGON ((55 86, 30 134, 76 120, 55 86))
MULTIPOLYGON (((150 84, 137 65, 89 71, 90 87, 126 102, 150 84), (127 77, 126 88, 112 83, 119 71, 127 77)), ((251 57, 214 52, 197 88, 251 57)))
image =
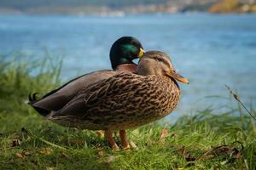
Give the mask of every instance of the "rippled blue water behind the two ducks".
POLYGON ((110 69, 109 48, 122 36, 137 37, 146 50, 166 52, 177 71, 189 78, 189 85, 180 84, 182 100, 170 119, 229 104, 230 100, 205 98, 229 97, 224 84, 234 88, 248 106, 255 106, 255 14, 0 15, 0 54, 15 50, 36 59, 47 48, 52 56, 64 57, 63 82, 110 69))

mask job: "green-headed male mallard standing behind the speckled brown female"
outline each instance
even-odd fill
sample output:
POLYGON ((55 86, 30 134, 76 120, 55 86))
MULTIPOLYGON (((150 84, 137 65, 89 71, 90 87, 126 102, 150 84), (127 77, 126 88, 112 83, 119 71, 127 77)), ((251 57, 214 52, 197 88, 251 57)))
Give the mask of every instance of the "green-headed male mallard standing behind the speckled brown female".
POLYGON ((82 88, 113 77, 120 71, 136 71, 137 65, 132 60, 142 57, 143 54, 143 46, 137 38, 120 37, 110 48, 109 56, 113 71, 103 70, 84 74, 45 94, 41 99, 37 99, 36 94, 29 95, 28 104, 42 116, 48 116, 51 111, 61 110, 82 88))

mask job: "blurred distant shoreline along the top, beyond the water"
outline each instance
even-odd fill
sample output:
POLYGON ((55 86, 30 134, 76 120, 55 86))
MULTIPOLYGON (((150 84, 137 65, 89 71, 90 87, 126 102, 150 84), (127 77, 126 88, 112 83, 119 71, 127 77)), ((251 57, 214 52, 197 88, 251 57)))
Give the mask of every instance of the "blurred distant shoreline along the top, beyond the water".
MULTIPOLYGON (((29 2, 30 0, 27 0, 29 2)), ((68 2, 68 1, 67 1, 68 2)), ((162 1, 160 3, 28 3, 12 5, 0 3, 0 14, 71 14, 97 16, 124 16, 125 14, 253 14, 256 13, 255 0, 194 0, 162 1), (184 3, 187 2, 187 3, 184 3), (188 3, 190 2, 190 3, 188 3), (21 5, 21 6, 20 6, 21 5)))

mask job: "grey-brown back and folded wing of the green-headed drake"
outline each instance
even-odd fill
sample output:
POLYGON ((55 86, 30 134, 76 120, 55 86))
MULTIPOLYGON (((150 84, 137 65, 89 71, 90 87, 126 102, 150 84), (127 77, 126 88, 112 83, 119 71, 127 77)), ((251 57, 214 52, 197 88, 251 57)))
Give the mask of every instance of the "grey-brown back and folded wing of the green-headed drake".
POLYGON ((46 116, 50 111, 61 110, 83 88, 88 88, 91 84, 113 77, 115 74, 116 71, 108 70, 84 74, 45 94, 42 99, 30 98, 29 104, 41 115, 46 116))

